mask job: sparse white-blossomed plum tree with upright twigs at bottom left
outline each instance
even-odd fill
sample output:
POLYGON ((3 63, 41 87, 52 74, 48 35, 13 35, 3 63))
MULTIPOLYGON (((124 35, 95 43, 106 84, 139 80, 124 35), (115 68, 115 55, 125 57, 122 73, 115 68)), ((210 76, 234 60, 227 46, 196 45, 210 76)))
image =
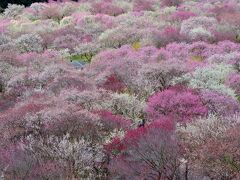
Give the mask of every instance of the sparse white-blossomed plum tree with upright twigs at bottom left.
MULTIPOLYGON (((101 177, 101 173, 104 174, 104 170, 101 172, 100 168, 104 160, 101 145, 93 145, 83 138, 79 140, 71 139, 69 134, 64 135, 62 138, 50 136, 47 139, 29 136, 27 141, 28 144, 25 146, 25 149, 35 153, 36 157, 54 159, 56 162, 55 166, 60 166, 62 164, 60 168, 63 169, 60 171, 60 174, 56 174, 57 169, 52 169, 53 172, 49 172, 51 169, 46 169, 47 167, 45 166, 38 169, 43 171, 41 176, 60 175, 60 177, 65 178, 86 178, 101 177)), ((35 167, 32 171, 32 176, 38 174, 35 167)))

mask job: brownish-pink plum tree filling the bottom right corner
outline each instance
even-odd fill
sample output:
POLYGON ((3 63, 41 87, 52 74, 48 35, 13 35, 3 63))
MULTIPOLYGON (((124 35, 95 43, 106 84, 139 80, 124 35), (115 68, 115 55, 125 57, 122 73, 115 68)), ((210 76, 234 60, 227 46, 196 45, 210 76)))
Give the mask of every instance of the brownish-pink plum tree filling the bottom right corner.
POLYGON ((224 137, 210 138, 201 146, 201 152, 204 154, 200 158, 201 168, 211 178, 239 178, 238 136, 239 125, 225 132, 224 137), (216 159, 219 161, 216 162, 216 159))

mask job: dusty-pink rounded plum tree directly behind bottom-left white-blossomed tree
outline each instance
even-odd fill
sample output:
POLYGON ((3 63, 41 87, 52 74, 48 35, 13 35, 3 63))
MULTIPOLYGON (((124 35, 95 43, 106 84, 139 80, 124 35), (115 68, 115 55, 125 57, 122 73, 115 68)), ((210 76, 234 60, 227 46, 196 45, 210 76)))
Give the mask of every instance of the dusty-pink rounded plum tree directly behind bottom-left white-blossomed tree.
MULTIPOLYGON (((76 107, 75 107, 76 108, 76 107)), ((69 133, 72 138, 85 137, 88 141, 97 141, 100 138, 101 123, 99 117, 87 110, 78 110, 71 106, 66 110, 52 108, 43 112, 42 119, 45 133, 62 136, 69 133), (75 110, 75 113, 73 111, 75 110)), ((103 136, 103 134, 101 134, 103 136)))

